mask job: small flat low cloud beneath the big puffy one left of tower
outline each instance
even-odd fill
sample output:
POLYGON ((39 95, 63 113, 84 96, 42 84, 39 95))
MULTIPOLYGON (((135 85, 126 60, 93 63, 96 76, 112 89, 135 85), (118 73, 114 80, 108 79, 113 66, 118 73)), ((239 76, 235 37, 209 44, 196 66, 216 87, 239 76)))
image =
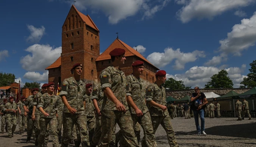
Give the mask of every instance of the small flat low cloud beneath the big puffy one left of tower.
POLYGON ((31 81, 46 83, 48 81, 48 73, 48 71, 44 72, 43 74, 40 74, 39 72, 26 72, 25 75, 23 75, 23 78, 26 78, 31 81))

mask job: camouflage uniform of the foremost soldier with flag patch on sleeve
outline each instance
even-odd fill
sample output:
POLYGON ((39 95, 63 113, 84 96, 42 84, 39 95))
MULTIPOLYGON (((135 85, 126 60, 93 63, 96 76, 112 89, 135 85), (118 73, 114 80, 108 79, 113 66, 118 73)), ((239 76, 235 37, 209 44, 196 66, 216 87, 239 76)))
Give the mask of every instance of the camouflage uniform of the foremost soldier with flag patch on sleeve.
POLYGON ((101 88, 109 87, 117 100, 126 108, 126 112, 118 111, 116 105, 107 98, 103 97, 102 113, 101 113, 101 128, 102 134, 99 141, 99 147, 108 147, 112 139, 113 129, 116 123, 119 125, 124 135, 124 142, 129 147, 139 147, 134 129, 131 113, 128 110, 126 101, 126 78, 124 72, 119 69, 109 66, 100 74, 101 88))

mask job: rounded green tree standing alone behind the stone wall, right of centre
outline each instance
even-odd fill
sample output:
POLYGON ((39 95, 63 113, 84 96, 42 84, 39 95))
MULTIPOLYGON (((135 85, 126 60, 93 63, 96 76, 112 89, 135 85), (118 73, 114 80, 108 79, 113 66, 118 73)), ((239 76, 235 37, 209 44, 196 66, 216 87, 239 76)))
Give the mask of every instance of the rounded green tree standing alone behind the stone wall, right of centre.
POLYGON ((228 77, 228 72, 224 69, 211 77, 211 81, 205 84, 205 88, 233 88, 233 81, 228 77))

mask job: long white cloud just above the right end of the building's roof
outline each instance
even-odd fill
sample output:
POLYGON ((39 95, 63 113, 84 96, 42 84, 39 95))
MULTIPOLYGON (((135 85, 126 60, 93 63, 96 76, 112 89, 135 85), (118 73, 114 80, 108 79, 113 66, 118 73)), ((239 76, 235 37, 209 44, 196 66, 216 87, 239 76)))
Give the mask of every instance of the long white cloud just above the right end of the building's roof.
POLYGON ((164 52, 153 52, 148 55, 147 60, 156 67, 164 67, 175 60, 174 69, 184 69, 186 63, 194 62, 198 58, 204 58, 204 51, 181 52, 180 49, 173 50, 172 48, 164 49, 164 52))

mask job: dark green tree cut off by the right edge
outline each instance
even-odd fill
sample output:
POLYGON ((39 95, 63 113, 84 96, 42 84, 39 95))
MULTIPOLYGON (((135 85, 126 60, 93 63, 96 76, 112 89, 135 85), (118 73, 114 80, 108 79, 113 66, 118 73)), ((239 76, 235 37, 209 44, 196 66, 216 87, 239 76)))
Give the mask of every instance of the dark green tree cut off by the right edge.
POLYGON ((243 81, 240 84, 244 84, 244 86, 240 86, 240 88, 250 88, 256 86, 256 60, 250 63, 251 68, 249 69, 249 74, 247 77, 244 77, 243 81))

